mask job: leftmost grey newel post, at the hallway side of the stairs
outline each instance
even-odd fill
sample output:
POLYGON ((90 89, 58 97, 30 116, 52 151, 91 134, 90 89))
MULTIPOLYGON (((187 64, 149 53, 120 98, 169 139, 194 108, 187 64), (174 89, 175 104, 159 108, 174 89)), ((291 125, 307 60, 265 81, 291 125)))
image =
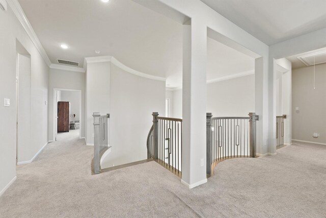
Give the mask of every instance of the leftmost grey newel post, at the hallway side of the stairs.
POLYGON ((99 124, 99 118, 100 113, 94 112, 94 174, 100 173, 100 156, 99 156, 99 134, 100 134, 100 124, 99 124))

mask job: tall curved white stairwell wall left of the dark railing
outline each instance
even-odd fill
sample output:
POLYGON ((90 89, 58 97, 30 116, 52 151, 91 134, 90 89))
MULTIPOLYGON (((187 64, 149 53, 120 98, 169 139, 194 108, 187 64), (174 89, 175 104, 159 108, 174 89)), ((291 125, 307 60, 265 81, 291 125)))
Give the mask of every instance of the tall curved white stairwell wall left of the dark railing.
POLYGON ((135 76, 111 64, 112 151, 102 167, 147 159, 152 112, 165 114, 165 82, 135 76))

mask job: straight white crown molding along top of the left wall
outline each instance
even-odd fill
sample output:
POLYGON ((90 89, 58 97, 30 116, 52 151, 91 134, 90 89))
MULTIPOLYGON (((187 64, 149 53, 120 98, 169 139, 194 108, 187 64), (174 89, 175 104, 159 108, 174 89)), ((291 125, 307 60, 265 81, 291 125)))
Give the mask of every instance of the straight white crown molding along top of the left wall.
POLYGON ((42 46, 39 38, 37 37, 30 21, 27 19, 24 11, 22 10, 20 4, 18 3, 17 0, 7 0, 7 3, 11 10, 14 12, 15 16, 19 20, 21 26, 24 28, 26 31, 27 35, 31 38, 32 42, 34 43, 36 49, 39 51, 41 56, 43 57, 44 61, 46 64, 50 67, 51 61, 49 57, 47 56, 44 47, 42 46))

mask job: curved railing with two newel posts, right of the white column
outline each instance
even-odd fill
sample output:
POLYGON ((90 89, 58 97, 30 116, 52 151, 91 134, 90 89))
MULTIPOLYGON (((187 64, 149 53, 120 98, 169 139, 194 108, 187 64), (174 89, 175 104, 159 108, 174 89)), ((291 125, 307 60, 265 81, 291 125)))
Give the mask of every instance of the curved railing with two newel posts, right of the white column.
POLYGON ((237 157, 256 157, 256 121, 259 116, 212 117, 206 114, 206 174, 210 177, 217 163, 237 157))

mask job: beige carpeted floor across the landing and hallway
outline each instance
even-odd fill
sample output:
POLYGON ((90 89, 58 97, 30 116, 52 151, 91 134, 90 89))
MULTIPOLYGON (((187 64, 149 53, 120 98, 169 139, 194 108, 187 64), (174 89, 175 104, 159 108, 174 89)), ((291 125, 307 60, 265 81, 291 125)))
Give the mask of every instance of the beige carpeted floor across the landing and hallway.
POLYGON ((0 217, 326 217, 326 146, 226 160, 188 189, 153 161, 92 176, 93 147, 61 136, 17 166, 0 217))

